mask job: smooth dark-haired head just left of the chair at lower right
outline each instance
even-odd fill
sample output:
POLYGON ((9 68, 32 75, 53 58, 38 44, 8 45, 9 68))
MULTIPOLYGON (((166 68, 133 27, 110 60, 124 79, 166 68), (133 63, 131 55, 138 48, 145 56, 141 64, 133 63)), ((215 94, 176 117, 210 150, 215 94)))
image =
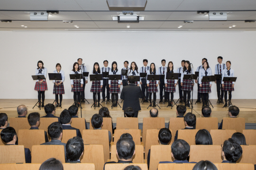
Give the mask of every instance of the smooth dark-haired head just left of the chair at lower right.
POLYGON ((212 138, 206 129, 201 129, 195 136, 196 144, 212 145, 212 138))

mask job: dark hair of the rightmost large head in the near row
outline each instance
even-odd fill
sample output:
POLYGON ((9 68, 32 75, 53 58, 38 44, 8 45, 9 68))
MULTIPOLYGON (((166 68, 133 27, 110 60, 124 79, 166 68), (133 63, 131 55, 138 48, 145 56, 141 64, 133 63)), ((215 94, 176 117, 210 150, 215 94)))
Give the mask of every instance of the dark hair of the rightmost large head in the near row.
POLYGON ((236 143, 233 139, 225 140, 222 151, 224 152, 227 161, 236 162, 241 157, 243 150, 240 144, 236 143))

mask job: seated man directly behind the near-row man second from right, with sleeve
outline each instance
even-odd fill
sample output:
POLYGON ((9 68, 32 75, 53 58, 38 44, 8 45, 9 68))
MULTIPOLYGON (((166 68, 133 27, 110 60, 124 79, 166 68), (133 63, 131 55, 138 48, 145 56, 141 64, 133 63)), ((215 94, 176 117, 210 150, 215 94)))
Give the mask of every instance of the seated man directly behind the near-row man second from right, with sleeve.
MULTIPOLYGON (((172 133, 169 129, 167 128, 161 128, 158 133, 158 142, 159 144, 164 144, 167 145, 171 142, 172 139, 172 133)), ((147 167, 149 169, 149 164, 150 164, 150 149, 148 150, 147 154, 147 167)))

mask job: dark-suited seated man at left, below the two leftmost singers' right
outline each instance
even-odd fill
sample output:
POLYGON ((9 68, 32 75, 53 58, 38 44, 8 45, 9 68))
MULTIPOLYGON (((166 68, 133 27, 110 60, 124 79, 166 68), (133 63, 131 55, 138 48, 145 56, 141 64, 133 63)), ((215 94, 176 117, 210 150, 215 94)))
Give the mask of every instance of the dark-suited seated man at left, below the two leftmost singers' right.
POLYGON ((82 138, 82 135, 81 135, 80 130, 77 129, 77 128, 71 127, 72 116, 71 116, 71 114, 70 114, 70 112, 69 112, 68 110, 64 109, 64 110, 61 112, 60 121, 61 121, 61 123, 62 123, 62 128, 63 128, 63 130, 65 130, 65 129, 68 129, 68 130, 76 130, 76 136, 82 138))

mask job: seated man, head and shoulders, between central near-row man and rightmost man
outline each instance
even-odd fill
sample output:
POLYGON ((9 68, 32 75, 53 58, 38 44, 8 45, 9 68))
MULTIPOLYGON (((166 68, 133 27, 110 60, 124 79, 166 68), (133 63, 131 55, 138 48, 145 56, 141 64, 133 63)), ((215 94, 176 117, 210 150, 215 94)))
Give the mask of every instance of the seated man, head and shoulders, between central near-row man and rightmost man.
POLYGON ((189 162, 187 158, 190 155, 190 145, 183 139, 177 139, 172 144, 172 157, 174 161, 160 161, 159 163, 197 163, 189 162))

